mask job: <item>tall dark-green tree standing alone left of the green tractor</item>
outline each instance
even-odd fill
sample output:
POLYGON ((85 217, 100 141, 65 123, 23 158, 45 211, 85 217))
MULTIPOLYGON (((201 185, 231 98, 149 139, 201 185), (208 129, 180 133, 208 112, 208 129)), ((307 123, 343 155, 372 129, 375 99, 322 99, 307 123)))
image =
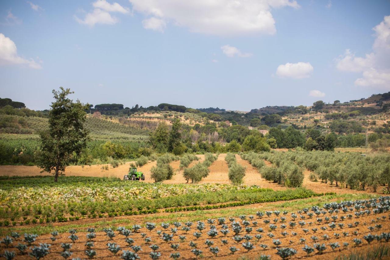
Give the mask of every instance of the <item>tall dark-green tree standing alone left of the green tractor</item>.
POLYGON ((38 166, 43 171, 54 171, 55 182, 69 163, 80 155, 88 138, 84 122, 89 104, 84 105, 79 100, 74 103, 67 98, 74 92, 63 87, 60 90, 53 89, 55 102, 51 103, 49 111, 49 129, 40 133, 41 151, 38 159, 38 166))

